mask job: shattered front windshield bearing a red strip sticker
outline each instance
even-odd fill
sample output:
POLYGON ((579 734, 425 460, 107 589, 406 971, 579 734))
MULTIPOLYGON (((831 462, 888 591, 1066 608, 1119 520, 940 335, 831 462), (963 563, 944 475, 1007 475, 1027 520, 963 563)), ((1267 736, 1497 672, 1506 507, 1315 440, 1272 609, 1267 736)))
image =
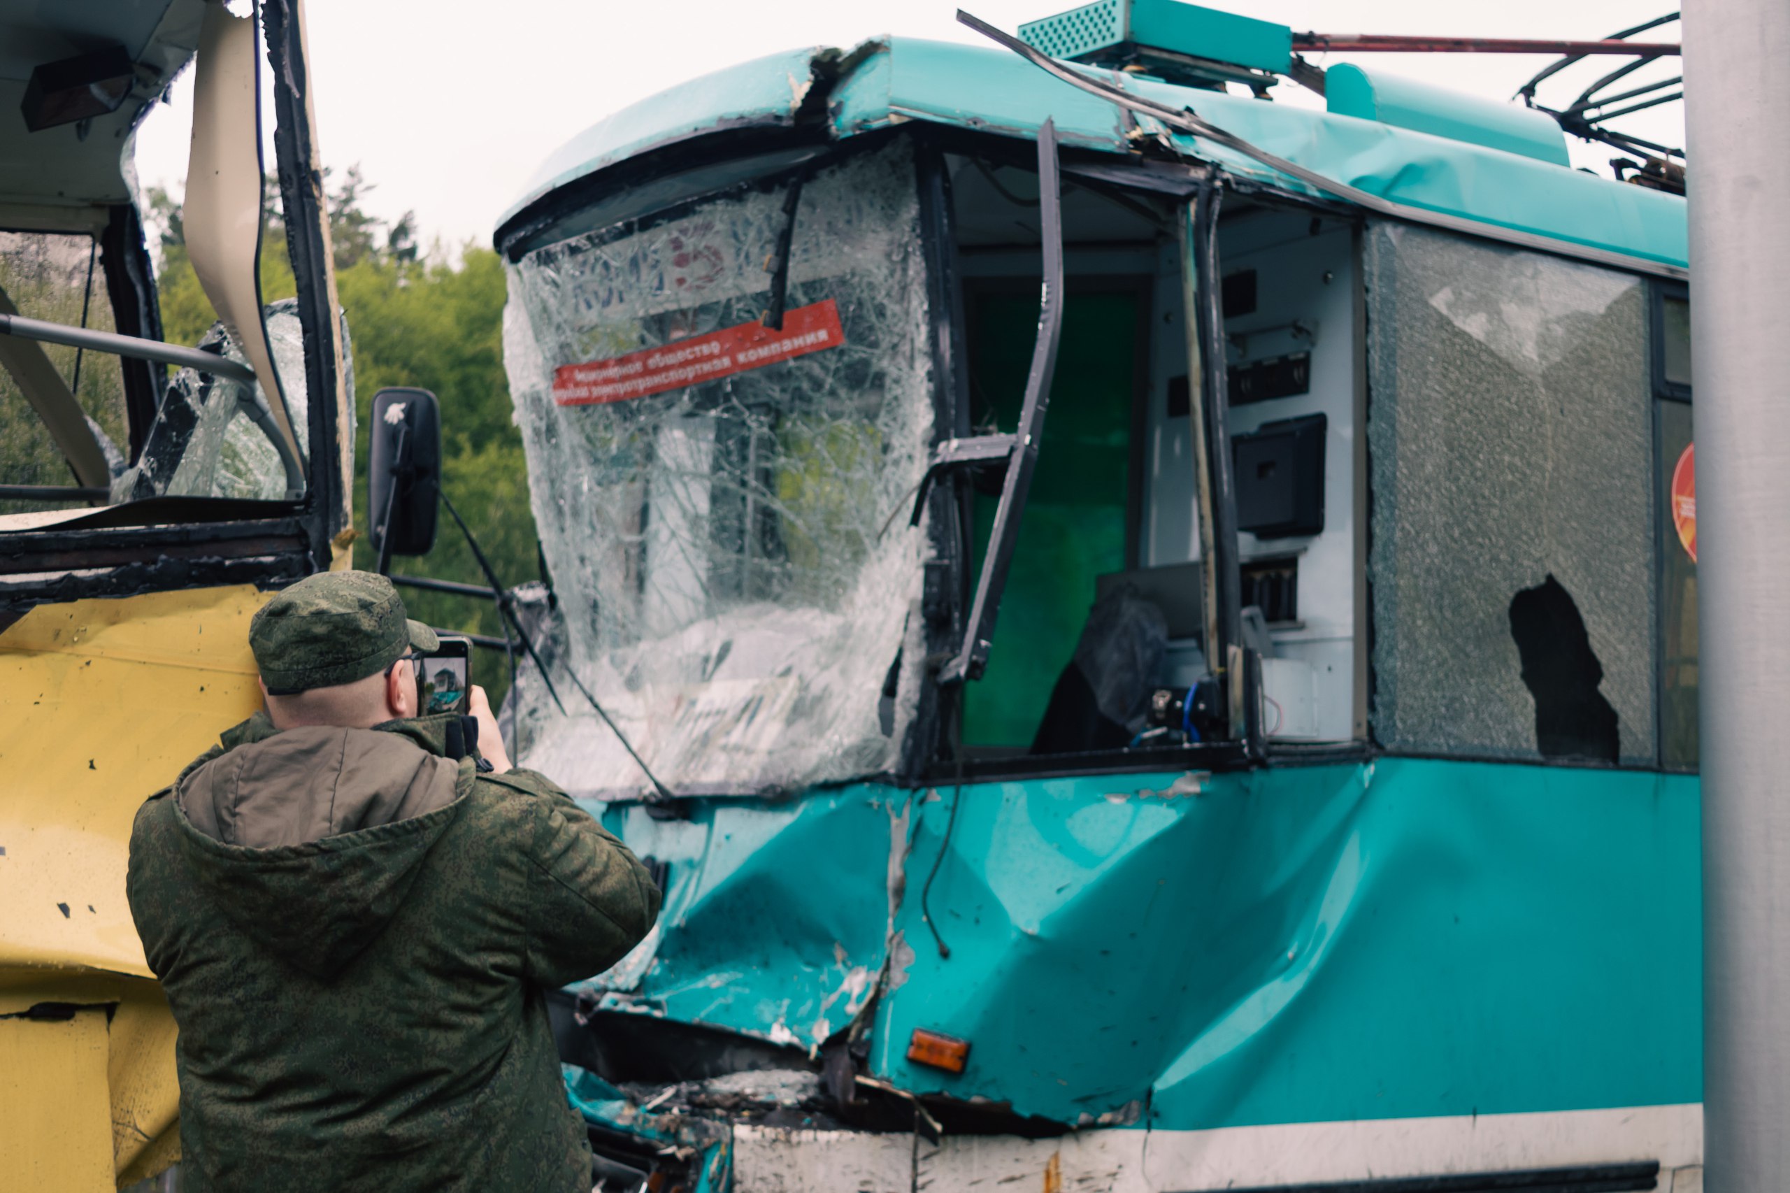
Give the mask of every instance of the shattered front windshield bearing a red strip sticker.
MULTIPOLYGON (((807 179, 768 333, 786 195, 510 269, 505 360, 569 665, 677 792, 888 770, 918 700, 906 507, 933 410, 909 150, 807 179)), ((530 765, 639 790, 587 708, 521 688, 530 765)))

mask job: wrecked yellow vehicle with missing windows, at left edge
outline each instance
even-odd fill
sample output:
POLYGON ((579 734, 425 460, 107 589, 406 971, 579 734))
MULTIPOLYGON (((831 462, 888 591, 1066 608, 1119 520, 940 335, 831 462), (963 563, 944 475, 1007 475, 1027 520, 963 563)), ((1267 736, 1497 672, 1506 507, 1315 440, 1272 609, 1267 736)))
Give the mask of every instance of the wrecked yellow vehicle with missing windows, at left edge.
POLYGON ((303 14, 236 9, 0 0, 5 1189, 113 1189, 179 1157, 131 822, 260 708, 247 632, 270 591, 347 562, 354 399, 303 14), (222 315, 197 346, 165 342, 134 170, 184 70, 184 249, 222 315), (295 297, 265 305, 281 231, 295 297))

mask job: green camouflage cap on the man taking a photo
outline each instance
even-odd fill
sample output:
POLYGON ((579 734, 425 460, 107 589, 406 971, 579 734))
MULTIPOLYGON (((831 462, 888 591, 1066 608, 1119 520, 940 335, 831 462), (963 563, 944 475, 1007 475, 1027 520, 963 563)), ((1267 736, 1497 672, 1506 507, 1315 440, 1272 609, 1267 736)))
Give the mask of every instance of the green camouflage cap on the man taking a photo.
POLYGON ((322 571, 261 605, 249 623, 249 648, 270 695, 335 688, 376 675, 410 648, 440 639, 405 616, 405 598, 372 571, 322 571))

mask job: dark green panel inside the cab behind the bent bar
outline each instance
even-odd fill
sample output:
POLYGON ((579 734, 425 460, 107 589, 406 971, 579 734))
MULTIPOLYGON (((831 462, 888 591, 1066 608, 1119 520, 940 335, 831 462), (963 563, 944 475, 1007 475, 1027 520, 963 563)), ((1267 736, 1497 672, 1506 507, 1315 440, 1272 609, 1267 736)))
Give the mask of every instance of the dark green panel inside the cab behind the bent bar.
MULTIPOLYGON (((1020 519, 988 670, 963 702, 967 745, 1031 745, 1094 604, 1094 577, 1126 566, 1137 292, 1070 294, 1038 468, 1020 519)), ((1038 292, 972 292, 970 408, 977 428, 1019 426, 1038 292)), ((997 496, 976 496, 981 568, 997 496)))

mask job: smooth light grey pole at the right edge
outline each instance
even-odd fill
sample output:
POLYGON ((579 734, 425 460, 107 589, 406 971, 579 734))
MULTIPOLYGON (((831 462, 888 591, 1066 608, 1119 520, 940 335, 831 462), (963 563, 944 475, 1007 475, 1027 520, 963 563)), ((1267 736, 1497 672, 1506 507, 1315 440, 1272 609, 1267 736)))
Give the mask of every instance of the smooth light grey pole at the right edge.
POLYGON ((1684 4, 1704 1188, 1790 1188, 1790 0, 1684 4))

